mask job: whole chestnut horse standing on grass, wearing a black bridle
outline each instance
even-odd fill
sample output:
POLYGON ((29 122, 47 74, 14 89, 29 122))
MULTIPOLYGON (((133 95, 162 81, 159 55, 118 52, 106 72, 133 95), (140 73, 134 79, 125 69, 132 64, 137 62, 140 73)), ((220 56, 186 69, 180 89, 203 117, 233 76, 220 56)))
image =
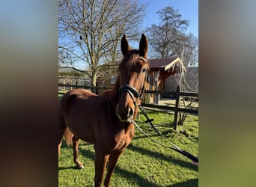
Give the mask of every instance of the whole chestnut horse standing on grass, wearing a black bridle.
POLYGON ((139 49, 130 49, 124 34, 121 40, 124 58, 113 89, 99 96, 74 89, 65 93, 59 103, 58 153, 64 135, 67 144, 73 143, 73 161, 83 168, 78 158, 79 139, 94 144, 94 186, 101 186, 107 162, 104 186, 109 186, 118 158, 134 136, 132 120, 138 114, 138 102, 149 70, 147 48, 144 34, 139 49))

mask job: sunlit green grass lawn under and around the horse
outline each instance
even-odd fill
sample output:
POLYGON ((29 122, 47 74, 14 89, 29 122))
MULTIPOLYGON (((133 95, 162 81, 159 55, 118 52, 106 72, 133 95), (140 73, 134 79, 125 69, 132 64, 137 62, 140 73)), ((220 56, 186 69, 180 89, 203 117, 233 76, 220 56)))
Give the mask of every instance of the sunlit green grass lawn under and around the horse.
MULTIPOLYGON (((183 126, 177 131, 171 127, 173 115, 162 111, 146 110, 153 118, 157 129, 183 150, 198 155, 198 116, 189 115, 183 126)), ((156 135, 149 124, 144 123, 145 117, 140 114, 136 120, 157 141, 165 143, 156 135)), ((61 155, 58 158, 59 186, 94 186, 94 148, 92 144, 81 141, 79 159, 85 168, 77 170, 73 164, 73 151, 63 142, 61 155)), ((118 160, 112 175, 111 186, 198 186, 198 167, 174 150, 153 143, 135 129, 132 143, 118 160)))

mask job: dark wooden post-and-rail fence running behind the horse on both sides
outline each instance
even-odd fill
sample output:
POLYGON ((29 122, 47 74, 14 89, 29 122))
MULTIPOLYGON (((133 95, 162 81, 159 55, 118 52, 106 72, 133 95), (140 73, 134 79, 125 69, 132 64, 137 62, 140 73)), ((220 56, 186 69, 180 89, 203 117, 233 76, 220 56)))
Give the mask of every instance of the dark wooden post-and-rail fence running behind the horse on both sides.
MULTIPOLYGON (((70 84, 58 84, 59 87, 64 87, 64 88, 69 88, 67 90, 70 90, 72 88, 85 88, 85 89, 99 89, 99 90, 107 90, 111 89, 108 87, 94 87, 94 86, 85 86, 85 85, 70 85, 70 84)), ((194 97, 197 98, 198 100, 198 93, 192 93, 192 92, 180 92, 180 86, 177 86, 176 91, 145 91, 145 93, 153 93, 153 94, 160 94, 160 95, 165 95, 165 96, 173 96, 175 98, 175 106, 164 106, 164 105, 153 105, 153 104, 147 104, 142 102, 141 106, 148 107, 148 108, 158 108, 162 110, 169 110, 169 111, 174 111, 174 129, 177 129, 177 123, 178 123, 178 113, 179 111, 182 112, 187 112, 189 114, 198 114, 198 108, 192 109, 192 108, 180 108, 180 96, 189 96, 189 97, 194 97)), ((64 94, 63 92, 58 92, 58 94, 64 94)))

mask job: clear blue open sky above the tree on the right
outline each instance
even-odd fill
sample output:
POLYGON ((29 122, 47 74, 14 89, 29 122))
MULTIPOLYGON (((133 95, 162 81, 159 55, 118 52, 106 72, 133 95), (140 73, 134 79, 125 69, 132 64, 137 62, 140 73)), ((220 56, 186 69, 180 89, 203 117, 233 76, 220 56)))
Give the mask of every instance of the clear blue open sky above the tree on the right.
POLYGON ((147 2, 146 17, 144 18, 144 27, 150 27, 153 23, 159 22, 159 16, 156 13, 163 7, 174 7, 179 10, 183 19, 189 19, 189 28, 186 33, 192 33, 198 37, 198 0, 144 0, 147 2))

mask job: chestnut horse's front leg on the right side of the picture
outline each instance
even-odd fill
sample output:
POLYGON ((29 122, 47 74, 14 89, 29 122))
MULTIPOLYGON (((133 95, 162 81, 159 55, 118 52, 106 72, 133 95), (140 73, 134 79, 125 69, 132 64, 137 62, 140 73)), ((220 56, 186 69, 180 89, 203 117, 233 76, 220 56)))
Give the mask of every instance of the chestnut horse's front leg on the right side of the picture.
POLYGON ((106 178, 104 180, 104 186, 110 186, 110 179, 115 170, 115 165, 117 165, 118 159, 121 156, 121 153, 123 153, 123 152, 124 152, 124 149, 118 150, 118 151, 111 153, 111 155, 109 156, 108 172, 107 172, 106 178))

